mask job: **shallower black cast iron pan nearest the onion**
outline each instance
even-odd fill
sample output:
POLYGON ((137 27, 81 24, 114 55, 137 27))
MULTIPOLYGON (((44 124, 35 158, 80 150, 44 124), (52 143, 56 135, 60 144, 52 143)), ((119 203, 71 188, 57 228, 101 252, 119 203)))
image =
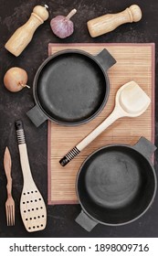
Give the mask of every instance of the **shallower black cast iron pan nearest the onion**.
POLYGON ((65 125, 89 122, 108 101, 107 70, 115 62, 106 49, 97 56, 69 49, 46 59, 37 69, 36 106, 27 112, 28 117, 37 126, 47 119, 65 125))

